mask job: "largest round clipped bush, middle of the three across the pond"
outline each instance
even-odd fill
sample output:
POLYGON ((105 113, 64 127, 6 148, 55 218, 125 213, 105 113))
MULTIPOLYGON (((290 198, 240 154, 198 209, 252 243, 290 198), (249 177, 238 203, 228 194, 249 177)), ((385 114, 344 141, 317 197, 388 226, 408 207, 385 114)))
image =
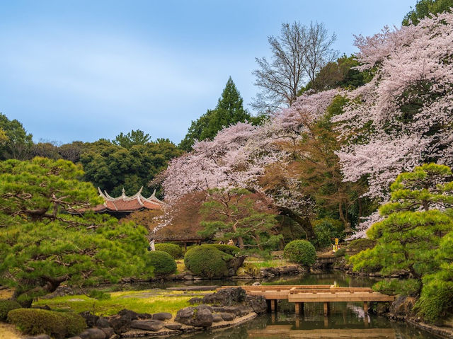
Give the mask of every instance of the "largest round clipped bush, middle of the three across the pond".
POLYGON ((184 255, 185 267, 194 275, 202 277, 224 277, 228 275, 227 262, 232 255, 219 251, 212 245, 190 248, 184 255))

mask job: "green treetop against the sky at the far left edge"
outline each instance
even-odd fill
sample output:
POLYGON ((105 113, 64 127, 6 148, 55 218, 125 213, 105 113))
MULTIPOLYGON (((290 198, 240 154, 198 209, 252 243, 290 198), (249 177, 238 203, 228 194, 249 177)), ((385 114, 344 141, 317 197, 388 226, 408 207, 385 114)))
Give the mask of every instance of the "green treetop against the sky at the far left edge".
POLYGON ((21 122, 0 113, 0 130, 0 160, 29 159, 33 136, 27 134, 21 122))

